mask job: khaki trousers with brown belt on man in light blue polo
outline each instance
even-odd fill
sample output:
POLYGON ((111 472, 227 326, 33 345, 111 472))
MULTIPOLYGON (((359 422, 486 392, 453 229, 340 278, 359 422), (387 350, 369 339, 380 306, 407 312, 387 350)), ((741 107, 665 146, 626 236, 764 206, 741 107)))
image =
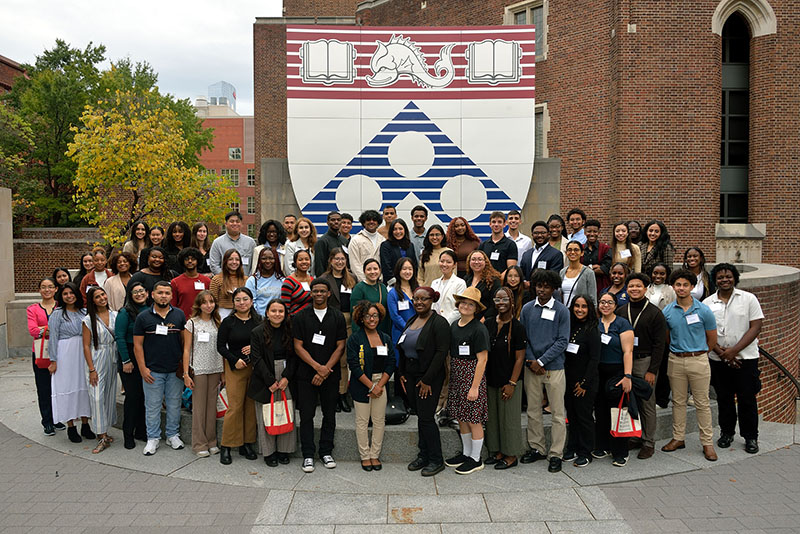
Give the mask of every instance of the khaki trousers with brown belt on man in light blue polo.
POLYGON ((667 376, 672 388, 672 439, 683 441, 686 437, 686 401, 691 387, 697 411, 697 426, 700 429, 700 443, 703 446, 712 445, 714 434, 711 426, 711 406, 708 402, 711 367, 708 364, 708 356, 701 354, 681 358, 670 353, 667 376))

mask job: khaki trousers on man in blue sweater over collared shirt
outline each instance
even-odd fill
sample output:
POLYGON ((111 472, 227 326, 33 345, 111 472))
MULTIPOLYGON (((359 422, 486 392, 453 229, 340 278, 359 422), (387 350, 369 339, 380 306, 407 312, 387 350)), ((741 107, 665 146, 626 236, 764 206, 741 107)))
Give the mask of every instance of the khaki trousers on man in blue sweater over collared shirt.
POLYGON ((566 409, 564 394, 567 390, 567 379, 564 370, 546 371, 537 375, 530 368, 525 368, 525 395, 528 397, 528 445, 544 454, 544 421, 542 416, 542 385, 547 390, 552 412, 550 458, 561 458, 564 444, 567 442, 566 409))

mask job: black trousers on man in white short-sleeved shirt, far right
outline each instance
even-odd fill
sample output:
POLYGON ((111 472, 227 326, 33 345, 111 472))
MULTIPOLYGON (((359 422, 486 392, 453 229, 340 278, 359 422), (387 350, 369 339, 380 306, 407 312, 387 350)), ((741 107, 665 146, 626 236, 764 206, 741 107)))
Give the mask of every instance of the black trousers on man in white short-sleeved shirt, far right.
POLYGON ((738 406, 739 434, 744 439, 758 439, 758 404, 756 394, 761 391, 758 359, 740 360, 741 367, 734 369, 725 362, 710 360, 711 384, 717 392, 719 426, 724 434, 736 433, 738 406))

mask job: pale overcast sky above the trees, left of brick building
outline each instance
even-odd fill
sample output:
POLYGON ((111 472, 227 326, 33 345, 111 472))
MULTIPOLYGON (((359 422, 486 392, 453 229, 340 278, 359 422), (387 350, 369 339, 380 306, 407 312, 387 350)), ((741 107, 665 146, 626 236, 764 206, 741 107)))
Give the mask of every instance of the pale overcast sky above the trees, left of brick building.
POLYGON ((129 57, 158 73, 162 93, 195 98, 224 80, 236 110, 253 114, 253 23, 277 17, 282 0, 1 0, 0 55, 33 63, 57 38, 106 46, 106 63, 129 57))

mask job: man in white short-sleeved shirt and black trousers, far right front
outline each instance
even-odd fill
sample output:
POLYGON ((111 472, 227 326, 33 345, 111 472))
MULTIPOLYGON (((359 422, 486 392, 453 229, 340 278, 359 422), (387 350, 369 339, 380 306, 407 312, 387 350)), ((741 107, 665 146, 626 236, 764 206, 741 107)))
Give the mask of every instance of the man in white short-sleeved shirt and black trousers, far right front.
POLYGON ((738 415, 744 450, 758 452, 758 334, 764 313, 752 293, 736 288, 739 271, 730 263, 719 263, 711 271, 717 292, 703 301, 717 320, 717 344, 709 351, 711 384, 717 392, 719 426, 717 445, 733 443, 738 415), (738 410, 738 414, 737 414, 738 410))

